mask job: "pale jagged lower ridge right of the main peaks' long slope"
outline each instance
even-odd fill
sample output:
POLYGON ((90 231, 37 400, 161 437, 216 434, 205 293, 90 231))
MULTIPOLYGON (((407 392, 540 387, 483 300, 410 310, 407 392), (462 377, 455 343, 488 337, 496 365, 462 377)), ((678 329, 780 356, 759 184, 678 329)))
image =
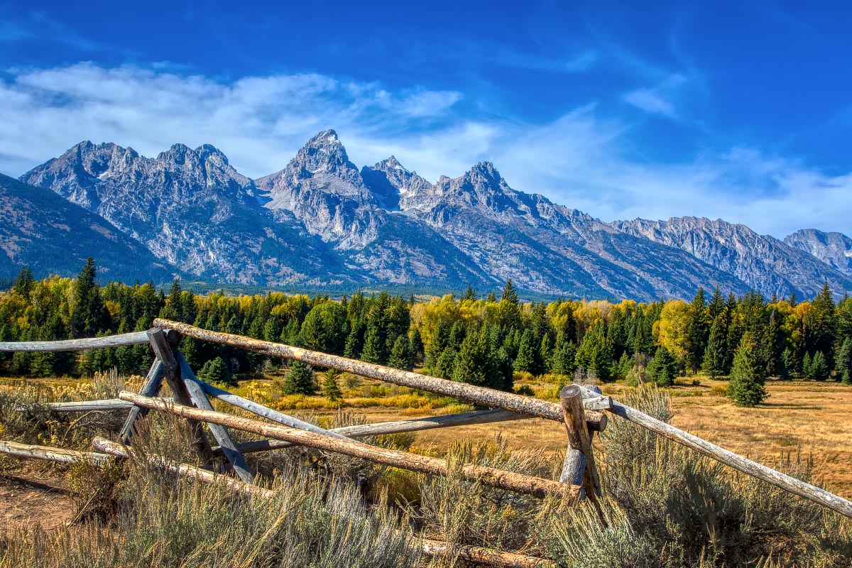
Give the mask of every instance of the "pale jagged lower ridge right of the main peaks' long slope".
POLYGON ((697 217, 668 221, 618 221, 613 227, 636 237, 686 250, 714 267, 732 273, 766 295, 813 297, 824 282, 838 294, 852 290, 852 280, 814 256, 745 225, 697 217))

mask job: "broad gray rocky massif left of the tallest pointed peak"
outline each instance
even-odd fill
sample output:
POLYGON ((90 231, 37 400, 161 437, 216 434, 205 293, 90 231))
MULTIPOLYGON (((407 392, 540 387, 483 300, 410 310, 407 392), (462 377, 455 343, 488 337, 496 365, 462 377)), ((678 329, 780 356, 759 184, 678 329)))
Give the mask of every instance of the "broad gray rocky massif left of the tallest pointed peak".
POLYGON ((182 272, 239 284, 349 281, 351 271, 292 217, 274 219, 222 152, 172 146, 157 158, 81 142, 21 177, 101 215, 182 272), (304 256, 302 256, 304 255, 304 256))

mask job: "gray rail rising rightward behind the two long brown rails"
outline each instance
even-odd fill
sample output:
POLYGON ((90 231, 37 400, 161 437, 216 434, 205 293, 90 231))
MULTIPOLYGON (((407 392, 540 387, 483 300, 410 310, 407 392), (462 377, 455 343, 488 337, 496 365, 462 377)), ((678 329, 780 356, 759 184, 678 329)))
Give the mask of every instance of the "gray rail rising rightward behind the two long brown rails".
MULTIPOLYGON (((515 414, 514 412, 509 412, 509 410, 478 410, 476 412, 463 412, 462 414, 432 416, 429 418, 417 418, 414 420, 343 426, 326 430, 325 432, 330 434, 340 434, 346 438, 365 438, 366 436, 380 436, 382 434, 420 432, 421 430, 432 430, 434 428, 469 426, 470 424, 489 424, 492 422, 507 422, 509 420, 530 420, 531 418, 532 416, 515 414)), ((273 419, 270 418, 270 420, 273 419)), ((296 446, 296 444, 279 439, 262 439, 257 440, 256 442, 238 444, 237 448, 239 448, 239 450, 244 454, 248 454, 256 451, 282 450, 284 448, 292 448, 293 446, 296 446)), ((221 450, 213 448, 213 453, 218 455, 221 453, 221 450)))

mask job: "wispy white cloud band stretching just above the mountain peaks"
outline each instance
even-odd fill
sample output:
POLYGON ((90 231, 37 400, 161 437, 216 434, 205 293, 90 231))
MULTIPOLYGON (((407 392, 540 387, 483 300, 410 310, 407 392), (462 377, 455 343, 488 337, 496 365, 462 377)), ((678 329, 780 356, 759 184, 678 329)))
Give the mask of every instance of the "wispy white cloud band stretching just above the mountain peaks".
MULTIPOLYGON (((531 124, 465 115, 456 91, 388 90, 320 74, 222 82, 162 65, 80 63, 7 70, 6 77, 0 171, 11 175, 89 139, 148 156, 176 142, 211 143, 241 173, 260 177, 282 169, 311 135, 333 128, 355 164, 394 154, 435 181, 489 160, 509 185, 604 221, 721 217, 783 237, 804 227, 849 232, 852 218, 850 174, 830 176, 737 146, 682 164, 639 163, 630 159, 634 127, 596 102, 531 124)), ((656 92, 676 95, 683 86, 670 77, 656 92)), ((639 102, 646 112, 677 116, 674 103, 639 102)))

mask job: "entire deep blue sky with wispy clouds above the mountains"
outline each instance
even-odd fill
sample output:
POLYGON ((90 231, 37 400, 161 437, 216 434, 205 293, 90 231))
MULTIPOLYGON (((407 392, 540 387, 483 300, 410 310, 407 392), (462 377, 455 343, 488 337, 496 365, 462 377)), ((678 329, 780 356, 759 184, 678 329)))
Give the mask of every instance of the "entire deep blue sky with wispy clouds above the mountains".
POLYGON ((334 128, 604 221, 852 232, 848 3, 520 4, 4 3, 0 172, 91 140, 258 177, 334 128))

